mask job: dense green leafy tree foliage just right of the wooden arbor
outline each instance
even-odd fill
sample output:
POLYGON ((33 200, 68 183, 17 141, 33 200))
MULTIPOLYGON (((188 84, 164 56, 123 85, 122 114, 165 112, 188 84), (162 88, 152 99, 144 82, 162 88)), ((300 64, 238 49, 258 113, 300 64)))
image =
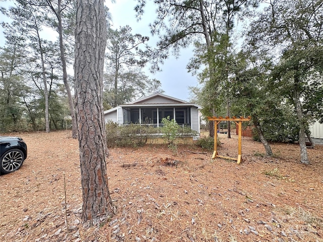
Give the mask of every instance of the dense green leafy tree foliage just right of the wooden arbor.
MULTIPOLYGON (((296 117, 292 107, 272 88, 270 59, 245 50, 236 56, 235 62, 232 112, 251 115, 267 141, 295 141, 298 137, 296 117)), ((260 141, 256 132, 253 138, 260 141)))

